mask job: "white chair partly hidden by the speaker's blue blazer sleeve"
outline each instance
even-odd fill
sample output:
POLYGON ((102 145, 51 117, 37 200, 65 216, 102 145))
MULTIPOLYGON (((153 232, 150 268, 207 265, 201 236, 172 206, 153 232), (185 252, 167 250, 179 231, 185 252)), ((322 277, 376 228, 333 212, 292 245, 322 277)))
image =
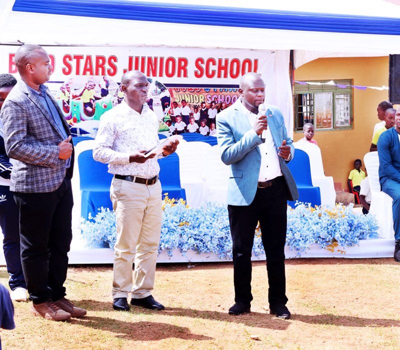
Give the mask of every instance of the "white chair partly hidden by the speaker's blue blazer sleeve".
POLYGON ((205 157, 205 182, 208 186, 208 201, 226 204, 229 166, 225 165, 219 153, 219 145, 209 149, 205 157))

